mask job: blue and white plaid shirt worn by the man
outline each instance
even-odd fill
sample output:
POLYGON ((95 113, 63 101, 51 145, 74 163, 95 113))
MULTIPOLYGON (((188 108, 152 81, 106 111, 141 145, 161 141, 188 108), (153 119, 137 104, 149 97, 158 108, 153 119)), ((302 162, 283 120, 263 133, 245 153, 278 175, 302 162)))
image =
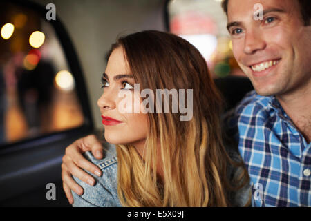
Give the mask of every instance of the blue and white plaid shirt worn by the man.
POLYGON ((252 206, 311 206, 311 143, 276 97, 253 90, 227 123, 249 172, 252 206))

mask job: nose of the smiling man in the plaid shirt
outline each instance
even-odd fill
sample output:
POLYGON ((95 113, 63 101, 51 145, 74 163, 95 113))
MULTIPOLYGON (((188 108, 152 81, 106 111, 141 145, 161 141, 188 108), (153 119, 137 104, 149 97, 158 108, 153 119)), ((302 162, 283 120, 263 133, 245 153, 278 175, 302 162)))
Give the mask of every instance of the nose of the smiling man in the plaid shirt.
POLYGON ((264 50, 267 46, 261 32, 256 32, 256 30, 246 32, 244 41, 244 52, 247 55, 252 55, 258 50, 264 50))

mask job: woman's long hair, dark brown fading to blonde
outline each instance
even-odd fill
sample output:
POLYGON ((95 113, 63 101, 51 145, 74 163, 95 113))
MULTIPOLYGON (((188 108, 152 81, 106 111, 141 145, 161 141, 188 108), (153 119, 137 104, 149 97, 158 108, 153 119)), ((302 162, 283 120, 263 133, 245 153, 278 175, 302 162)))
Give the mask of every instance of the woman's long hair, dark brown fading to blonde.
POLYGON ((189 42, 167 32, 121 37, 111 52, 119 46, 140 90, 193 89, 191 120, 180 121, 171 106, 169 113, 148 113, 143 157, 134 146, 117 145, 122 206, 228 206, 231 161, 220 126, 222 102, 205 59, 189 42), (159 157, 163 180, 157 175, 159 157))

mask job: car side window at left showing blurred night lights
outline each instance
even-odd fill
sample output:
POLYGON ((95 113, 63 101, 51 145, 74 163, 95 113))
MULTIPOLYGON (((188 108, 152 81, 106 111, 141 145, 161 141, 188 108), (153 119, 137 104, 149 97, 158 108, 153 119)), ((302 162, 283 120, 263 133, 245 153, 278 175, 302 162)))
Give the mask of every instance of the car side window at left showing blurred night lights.
POLYGON ((0 146, 85 122, 77 79, 51 22, 0 3, 0 146))

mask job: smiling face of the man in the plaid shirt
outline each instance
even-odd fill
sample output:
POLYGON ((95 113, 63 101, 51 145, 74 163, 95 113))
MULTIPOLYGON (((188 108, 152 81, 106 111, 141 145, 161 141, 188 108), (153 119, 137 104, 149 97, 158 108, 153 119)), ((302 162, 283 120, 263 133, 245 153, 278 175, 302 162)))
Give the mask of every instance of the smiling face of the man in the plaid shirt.
POLYGON ((311 87, 311 26, 298 1, 229 0, 234 57, 259 95, 286 95, 311 87), (256 3, 263 19, 255 20, 256 3))

